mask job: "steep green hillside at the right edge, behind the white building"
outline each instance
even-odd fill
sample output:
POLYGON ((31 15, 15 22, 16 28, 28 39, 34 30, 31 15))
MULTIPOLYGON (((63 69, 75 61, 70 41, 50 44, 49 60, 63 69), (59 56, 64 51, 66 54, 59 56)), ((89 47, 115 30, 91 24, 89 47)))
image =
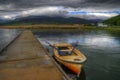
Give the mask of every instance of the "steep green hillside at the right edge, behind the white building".
POLYGON ((104 21, 104 23, 109 24, 109 25, 120 26, 120 15, 112 17, 112 18, 104 21))

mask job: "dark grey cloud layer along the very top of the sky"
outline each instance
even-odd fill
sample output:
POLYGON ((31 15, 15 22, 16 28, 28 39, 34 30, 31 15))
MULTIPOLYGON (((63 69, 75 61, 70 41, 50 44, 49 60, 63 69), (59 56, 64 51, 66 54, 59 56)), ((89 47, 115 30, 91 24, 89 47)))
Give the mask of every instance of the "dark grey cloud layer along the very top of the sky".
POLYGON ((88 6, 119 6, 120 0, 0 0, 1 5, 13 5, 14 8, 31 8, 38 6, 68 6, 68 7, 88 7, 88 6))

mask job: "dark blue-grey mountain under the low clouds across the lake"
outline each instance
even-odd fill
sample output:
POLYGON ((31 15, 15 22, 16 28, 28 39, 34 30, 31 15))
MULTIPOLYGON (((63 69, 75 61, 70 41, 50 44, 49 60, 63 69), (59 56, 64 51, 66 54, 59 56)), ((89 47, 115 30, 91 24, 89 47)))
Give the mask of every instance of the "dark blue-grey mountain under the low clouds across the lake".
POLYGON ((86 24, 93 23, 93 20, 85 20, 80 18, 64 18, 64 17, 48 17, 48 16, 29 16, 24 18, 17 18, 13 21, 1 23, 1 25, 12 24, 86 24))

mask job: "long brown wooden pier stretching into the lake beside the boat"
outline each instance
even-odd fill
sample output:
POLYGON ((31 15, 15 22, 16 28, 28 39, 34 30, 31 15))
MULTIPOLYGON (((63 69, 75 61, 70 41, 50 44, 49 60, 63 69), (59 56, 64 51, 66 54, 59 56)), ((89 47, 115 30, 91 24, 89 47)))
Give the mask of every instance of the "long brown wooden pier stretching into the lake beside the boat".
POLYGON ((0 53, 0 80, 70 80, 31 31, 0 53))

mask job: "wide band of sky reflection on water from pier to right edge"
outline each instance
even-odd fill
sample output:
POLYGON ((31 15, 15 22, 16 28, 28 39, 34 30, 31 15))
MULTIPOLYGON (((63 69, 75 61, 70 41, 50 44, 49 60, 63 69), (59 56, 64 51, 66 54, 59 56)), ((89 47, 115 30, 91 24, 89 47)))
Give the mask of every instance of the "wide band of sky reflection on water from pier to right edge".
MULTIPOLYGON (((119 47, 120 45, 120 38, 119 37, 113 37, 107 33, 104 32, 97 32, 97 33, 73 33, 70 35, 69 33, 47 33, 42 35, 37 35, 37 37, 40 37, 40 41, 44 43, 45 40, 50 41, 52 44, 54 43, 75 43, 79 42, 80 45, 95 45, 99 47, 119 47), (50 34, 50 35, 49 35, 50 34), (56 35, 56 36, 55 36, 56 35), (112 45, 112 46, 111 46, 112 45)), ((46 45, 44 43, 44 45, 46 45)))

